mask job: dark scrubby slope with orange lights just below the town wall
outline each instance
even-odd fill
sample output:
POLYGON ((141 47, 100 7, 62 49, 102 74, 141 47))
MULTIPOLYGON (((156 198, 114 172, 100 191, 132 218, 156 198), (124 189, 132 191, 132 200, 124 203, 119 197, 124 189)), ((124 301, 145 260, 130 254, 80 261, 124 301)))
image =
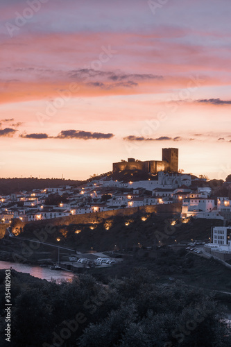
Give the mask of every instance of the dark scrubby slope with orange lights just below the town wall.
MULTIPOLYGON (((130 216, 114 216, 92 223, 71 223, 53 225, 53 232, 47 233, 47 242, 69 246, 78 251, 132 251, 133 247, 162 246, 191 242, 191 239, 208 241, 212 226, 223 225, 223 221, 191 219, 182 223, 180 215, 137 212, 130 216), (178 217, 177 217, 178 216, 178 217), (174 225, 171 225, 174 224, 174 225), (57 242, 57 239, 60 239, 57 242), (176 241, 175 241, 176 240, 176 241)), ((51 221, 47 224, 51 225, 51 221)), ((20 236, 33 238, 45 224, 28 223, 20 236)))

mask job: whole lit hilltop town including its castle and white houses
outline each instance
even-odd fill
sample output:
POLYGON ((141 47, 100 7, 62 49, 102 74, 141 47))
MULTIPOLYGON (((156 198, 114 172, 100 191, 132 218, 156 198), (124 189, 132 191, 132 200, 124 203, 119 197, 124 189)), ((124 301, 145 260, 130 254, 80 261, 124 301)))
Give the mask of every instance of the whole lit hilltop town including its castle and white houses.
POLYGON ((178 170, 178 149, 162 149, 162 161, 121 160, 113 163, 112 172, 92 176, 80 185, 44 187, 0 196, 1 223, 6 224, 10 233, 9 226, 14 219, 34 223, 112 210, 119 215, 124 209, 133 208, 135 213, 142 206, 163 205, 164 208, 173 204, 182 221, 214 220, 206 251, 231 254, 228 226, 231 201, 229 196, 219 196, 219 192, 230 191, 231 183, 220 182, 217 191, 211 182, 203 175, 198 178, 178 170))

